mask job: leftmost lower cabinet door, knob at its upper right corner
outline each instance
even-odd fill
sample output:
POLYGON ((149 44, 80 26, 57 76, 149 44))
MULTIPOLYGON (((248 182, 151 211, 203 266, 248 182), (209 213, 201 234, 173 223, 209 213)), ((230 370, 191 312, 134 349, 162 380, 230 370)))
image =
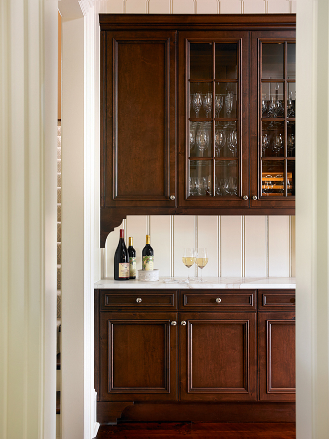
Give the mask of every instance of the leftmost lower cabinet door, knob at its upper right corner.
POLYGON ((177 313, 101 313, 101 401, 176 400, 177 313))

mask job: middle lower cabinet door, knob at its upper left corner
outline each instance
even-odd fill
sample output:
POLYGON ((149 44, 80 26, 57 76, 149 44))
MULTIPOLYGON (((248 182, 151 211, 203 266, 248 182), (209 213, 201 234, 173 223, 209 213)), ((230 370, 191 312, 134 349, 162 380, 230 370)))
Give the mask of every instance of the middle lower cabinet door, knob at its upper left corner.
POLYGON ((256 313, 181 313, 180 399, 256 401, 256 313))

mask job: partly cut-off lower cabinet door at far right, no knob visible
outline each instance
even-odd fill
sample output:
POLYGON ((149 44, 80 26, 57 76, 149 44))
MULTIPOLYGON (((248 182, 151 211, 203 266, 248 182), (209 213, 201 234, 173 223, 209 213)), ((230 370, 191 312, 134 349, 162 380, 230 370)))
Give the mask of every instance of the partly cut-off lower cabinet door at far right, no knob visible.
POLYGON ((259 401, 295 401, 295 313, 259 313, 259 401))

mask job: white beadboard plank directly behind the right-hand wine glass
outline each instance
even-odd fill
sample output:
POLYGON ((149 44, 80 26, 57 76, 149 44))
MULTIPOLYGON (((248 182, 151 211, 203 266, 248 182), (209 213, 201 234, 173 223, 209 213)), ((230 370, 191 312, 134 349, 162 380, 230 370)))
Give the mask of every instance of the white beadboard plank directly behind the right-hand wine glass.
POLYGON ((197 246, 206 247, 209 262, 203 268, 204 276, 219 276, 218 274, 218 217, 198 216, 197 218, 197 246))

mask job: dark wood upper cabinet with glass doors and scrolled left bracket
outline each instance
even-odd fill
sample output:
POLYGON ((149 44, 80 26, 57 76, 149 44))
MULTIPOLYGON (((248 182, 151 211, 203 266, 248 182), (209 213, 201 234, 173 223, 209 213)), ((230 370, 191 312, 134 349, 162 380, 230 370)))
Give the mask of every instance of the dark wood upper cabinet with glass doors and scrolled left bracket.
POLYGON ((100 24, 102 246, 129 214, 294 214, 294 14, 100 24))

